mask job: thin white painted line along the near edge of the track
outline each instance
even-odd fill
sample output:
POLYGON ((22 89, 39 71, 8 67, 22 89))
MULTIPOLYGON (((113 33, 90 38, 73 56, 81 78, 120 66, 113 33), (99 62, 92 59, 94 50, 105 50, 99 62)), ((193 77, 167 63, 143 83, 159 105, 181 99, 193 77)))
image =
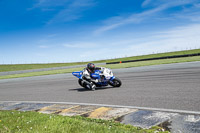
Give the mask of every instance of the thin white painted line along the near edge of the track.
POLYGON ((73 104, 73 105, 88 105, 88 106, 104 106, 104 107, 113 107, 113 108, 132 108, 132 109, 139 109, 139 110, 151 110, 151 111, 162 111, 162 112, 170 112, 170 113, 183 113, 183 114, 195 114, 195 115, 200 115, 200 112, 199 112, 199 111, 176 110, 176 109, 164 109, 164 108, 150 108, 150 107, 138 107, 138 106, 94 104, 94 103, 49 102, 49 101, 0 101, 0 102, 52 103, 52 104, 73 104))

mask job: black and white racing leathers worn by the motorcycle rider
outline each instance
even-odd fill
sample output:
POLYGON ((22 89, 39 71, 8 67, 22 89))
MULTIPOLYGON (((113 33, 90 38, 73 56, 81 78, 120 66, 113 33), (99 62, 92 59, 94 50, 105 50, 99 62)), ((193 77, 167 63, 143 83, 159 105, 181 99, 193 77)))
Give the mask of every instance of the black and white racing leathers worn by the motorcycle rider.
MULTIPOLYGON (((104 71, 104 67, 96 67, 95 70, 100 70, 100 72, 103 73, 104 71)), ((95 90, 96 88, 96 83, 97 82, 101 82, 101 79, 93 79, 91 77, 91 74, 95 72, 95 70, 93 72, 89 71, 87 68, 83 69, 83 76, 82 76, 82 81, 81 84, 83 87, 91 89, 91 90, 95 90)))

